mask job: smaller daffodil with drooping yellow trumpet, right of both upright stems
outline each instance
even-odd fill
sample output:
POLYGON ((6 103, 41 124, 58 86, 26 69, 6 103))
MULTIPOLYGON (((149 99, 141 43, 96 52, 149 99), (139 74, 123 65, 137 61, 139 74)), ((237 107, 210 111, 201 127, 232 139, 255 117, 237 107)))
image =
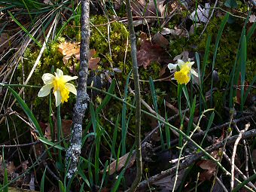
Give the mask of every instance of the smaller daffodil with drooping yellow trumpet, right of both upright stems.
POLYGON ((169 63, 168 68, 172 72, 172 70, 177 69, 178 66, 179 71, 174 73, 174 79, 178 82, 178 84, 187 84, 190 81, 191 75, 198 77, 197 72, 195 72, 195 70, 192 69, 193 65, 194 62, 184 62, 181 59, 178 59, 177 64, 169 63))

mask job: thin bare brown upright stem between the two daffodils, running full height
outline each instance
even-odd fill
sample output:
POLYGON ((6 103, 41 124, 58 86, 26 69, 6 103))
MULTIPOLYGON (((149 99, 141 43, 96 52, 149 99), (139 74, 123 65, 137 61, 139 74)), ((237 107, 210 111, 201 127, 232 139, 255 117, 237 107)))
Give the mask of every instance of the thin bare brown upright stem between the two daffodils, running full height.
POLYGON ((138 62, 137 62, 137 50, 136 50, 136 35, 133 27, 133 14, 132 6, 130 0, 126 0, 126 14, 128 17, 128 26, 130 32, 130 41, 131 41, 131 56, 133 62, 133 78, 134 78, 134 87, 135 87, 135 100, 136 100, 136 178, 133 181, 130 191, 136 191, 136 188, 139 182, 142 179, 142 147, 141 147, 141 95, 139 88, 139 72, 138 72, 138 62))

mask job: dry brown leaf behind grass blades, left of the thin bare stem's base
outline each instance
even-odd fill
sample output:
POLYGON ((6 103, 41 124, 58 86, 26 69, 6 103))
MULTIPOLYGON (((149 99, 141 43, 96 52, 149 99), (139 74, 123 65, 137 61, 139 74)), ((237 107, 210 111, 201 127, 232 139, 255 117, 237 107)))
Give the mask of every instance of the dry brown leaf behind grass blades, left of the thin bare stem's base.
MULTIPOLYGON (((112 175, 114 172, 119 172, 120 169, 122 169, 123 166, 125 165, 128 156, 129 156, 129 153, 123 155, 123 157, 120 157, 119 160, 118 160, 118 165, 117 165, 117 160, 114 160, 108 166, 107 172, 109 172, 109 175, 112 175)), ((130 164, 129 164, 128 168, 133 166, 133 163, 135 162, 135 159, 136 159, 136 156, 133 155, 132 159, 130 160, 130 164)), ((101 172, 103 172, 103 170, 101 172)))

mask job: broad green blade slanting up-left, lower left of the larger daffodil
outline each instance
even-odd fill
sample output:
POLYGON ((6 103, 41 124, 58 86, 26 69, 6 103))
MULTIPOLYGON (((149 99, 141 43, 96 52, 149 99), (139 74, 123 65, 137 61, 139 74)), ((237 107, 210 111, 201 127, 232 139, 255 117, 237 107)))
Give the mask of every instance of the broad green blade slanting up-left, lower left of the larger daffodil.
POLYGON ((30 111, 28 105, 26 105, 26 103, 23 101, 23 99, 21 99, 19 94, 15 92, 15 90, 13 90, 11 87, 8 87, 8 90, 11 91, 11 93, 14 95, 15 99, 17 99, 17 102, 19 102, 21 108, 23 108, 23 111, 26 113, 26 115, 29 117, 29 119, 34 124, 35 129, 38 131, 38 135, 40 137, 44 137, 44 135, 41 131, 41 127, 39 126, 38 121, 35 119, 34 114, 32 114, 32 111, 30 111))

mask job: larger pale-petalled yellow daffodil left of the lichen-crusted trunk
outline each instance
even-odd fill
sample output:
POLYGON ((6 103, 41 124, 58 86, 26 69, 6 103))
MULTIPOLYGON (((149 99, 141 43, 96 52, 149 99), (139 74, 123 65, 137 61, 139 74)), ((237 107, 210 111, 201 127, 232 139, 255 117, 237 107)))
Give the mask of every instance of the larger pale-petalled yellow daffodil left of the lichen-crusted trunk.
POLYGON ((44 86, 39 90, 38 97, 47 96, 53 88, 53 94, 56 100, 56 107, 62 102, 67 102, 69 99, 69 92, 77 95, 77 90, 73 84, 67 83, 68 81, 77 79, 77 76, 71 77, 69 75, 63 75, 62 70, 57 69, 55 76, 50 73, 45 73, 42 76, 44 86))

